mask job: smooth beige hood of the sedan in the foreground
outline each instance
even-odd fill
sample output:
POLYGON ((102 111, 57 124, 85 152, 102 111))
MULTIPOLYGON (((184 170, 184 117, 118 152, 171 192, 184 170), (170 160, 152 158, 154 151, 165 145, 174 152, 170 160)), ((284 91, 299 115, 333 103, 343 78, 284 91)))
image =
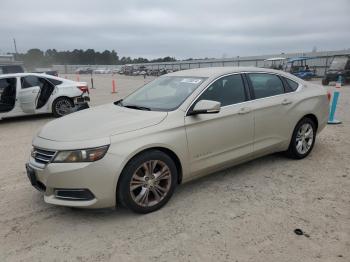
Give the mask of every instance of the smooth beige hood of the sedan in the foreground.
POLYGON ((51 121, 39 131, 38 137, 54 141, 92 140, 153 126, 166 116, 167 112, 107 104, 51 121))

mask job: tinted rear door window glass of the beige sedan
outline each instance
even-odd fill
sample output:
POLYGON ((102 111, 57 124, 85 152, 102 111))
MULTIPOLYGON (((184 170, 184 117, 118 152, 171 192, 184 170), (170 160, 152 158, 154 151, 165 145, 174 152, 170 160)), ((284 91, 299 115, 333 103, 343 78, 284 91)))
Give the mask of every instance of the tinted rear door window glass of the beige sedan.
POLYGON ((275 96, 284 93, 281 79, 272 74, 248 74, 255 98, 275 96))

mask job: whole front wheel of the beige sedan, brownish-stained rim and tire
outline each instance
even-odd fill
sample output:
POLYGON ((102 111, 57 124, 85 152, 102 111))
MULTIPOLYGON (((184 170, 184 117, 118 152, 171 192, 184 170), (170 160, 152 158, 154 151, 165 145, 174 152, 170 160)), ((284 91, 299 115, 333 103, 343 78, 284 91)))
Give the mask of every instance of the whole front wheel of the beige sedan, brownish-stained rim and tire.
POLYGON ((117 197, 125 207, 137 213, 150 213, 164 206, 177 184, 174 161, 158 150, 134 157, 124 168, 117 197))

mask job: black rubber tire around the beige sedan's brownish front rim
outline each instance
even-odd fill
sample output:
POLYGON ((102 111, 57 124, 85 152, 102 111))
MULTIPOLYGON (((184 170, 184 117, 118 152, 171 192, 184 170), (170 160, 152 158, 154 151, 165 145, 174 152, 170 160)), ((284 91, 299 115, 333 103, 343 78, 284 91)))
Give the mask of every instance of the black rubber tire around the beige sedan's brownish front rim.
MULTIPOLYGON (((160 172, 160 174, 162 174, 162 173, 163 172, 160 172)), ((118 188, 117 188, 117 200, 120 204, 122 204, 126 208, 128 208, 136 213, 146 214, 146 213, 156 211, 156 210, 160 209, 162 206, 164 206, 171 198, 172 194, 174 193, 175 187, 177 185, 177 181, 178 181, 177 177, 178 177, 178 174, 177 174, 177 168, 175 166, 175 163, 167 154, 165 154, 159 150, 146 151, 144 153, 141 153, 141 154, 135 156, 125 166, 125 168, 124 168, 124 170, 119 178, 119 183, 118 183, 118 188), (157 191, 156 187, 158 185, 160 185, 161 182, 154 182, 154 183, 158 183, 158 185, 149 185, 147 183, 150 180, 156 181, 155 180, 156 178, 153 176, 153 175, 156 175, 154 170, 158 169, 158 173, 159 173, 160 167, 158 167, 157 164, 155 164, 154 169, 152 167, 152 170, 153 170, 151 172, 153 174, 152 179, 146 180, 146 176, 147 176, 146 171, 144 173, 144 176, 142 176, 142 174, 143 174, 142 171, 144 171, 142 169, 145 169, 144 164, 151 163, 151 166, 153 166, 152 161, 159 163, 159 165, 161 164, 161 167, 163 167, 163 168, 164 168, 164 166, 162 166, 162 165, 166 165, 166 167, 168 168, 168 171, 170 172, 170 175, 168 174, 169 172, 167 173, 167 180, 165 180, 165 179, 161 180, 162 183, 164 183, 164 181, 166 181, 165 187, 168 189, 167 189, 167 193, 164 194, 164 196, 162 196, 160 198, 159 202, 157 202, 157 200, 156 200, 154 190, 157 191), (139 176, 137 174, 141 174, 141 176, 139 176), (132 181, 137 182, 137 180, 138 180, 138 179, 137 180, 135 179, 135 176, 138 179, 140 179, 140 178, 144 179, 145 181, 139 182, 139 183, 144 183, 146 185, 137 186, 137 188, 135 188, 134 191, 132 191, 131 190, 131 182, 132 181), (170 182, 168 180, 169 179, 168 177, 170 177, 170 182), (137 200, 136 200, 139 197, 139 195, 142 195, 143 190, 146 192, 148 190, 148 193, 147 193, 148 200, 147 200, 147 204, 145 204, 144 206, 137 203, 137 200), (136 194, 137 194, 137 196, 135 196, 136 194), (151 205, 151 202, 149 201, 149 199, 152 200, 152 196, 153 196, 154 203, 151 205)), ((163 187, 164 187, 164 184, 162 185, 161 188, 163 188, 163 187)), ((145 193, 143 195, 145 195, 145 193)), ((142 199, 142 197, 141 197, 141 199, 142 199)))

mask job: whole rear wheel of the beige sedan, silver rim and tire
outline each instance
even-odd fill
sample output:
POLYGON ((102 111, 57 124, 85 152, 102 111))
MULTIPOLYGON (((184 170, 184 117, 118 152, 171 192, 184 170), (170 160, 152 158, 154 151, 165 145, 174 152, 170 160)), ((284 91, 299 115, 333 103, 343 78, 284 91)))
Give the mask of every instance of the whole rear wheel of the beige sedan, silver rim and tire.
POLYGON ((296 125, 290 141, 287 155, 294 159, 302 159, 312 151, 316 139, 316 125, 310 118, 303 118, 296 125))

